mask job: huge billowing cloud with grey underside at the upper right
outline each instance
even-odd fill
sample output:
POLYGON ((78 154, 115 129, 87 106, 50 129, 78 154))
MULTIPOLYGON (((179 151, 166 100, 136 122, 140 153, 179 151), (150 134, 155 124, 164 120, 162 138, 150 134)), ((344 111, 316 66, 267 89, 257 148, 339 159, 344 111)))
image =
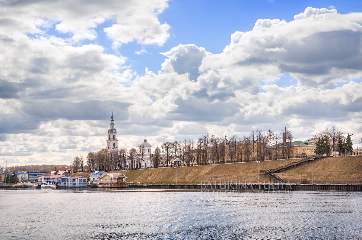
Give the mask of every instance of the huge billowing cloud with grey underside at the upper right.
POLYGON ((291 73, 301 87, 329 87, 345 77, 361 77, 362 14, 352 21, 335 9, 308 7, 294 19, 259 19, 253 30, 235 32, 223 53, 205 57, 201 72, 223 71, 225 76, 240 69, 245 74, 239 77, 241 86, 246 75, 257 86, 291 73), (256 67, 262 70, 259 76, 252 73, 256 67))

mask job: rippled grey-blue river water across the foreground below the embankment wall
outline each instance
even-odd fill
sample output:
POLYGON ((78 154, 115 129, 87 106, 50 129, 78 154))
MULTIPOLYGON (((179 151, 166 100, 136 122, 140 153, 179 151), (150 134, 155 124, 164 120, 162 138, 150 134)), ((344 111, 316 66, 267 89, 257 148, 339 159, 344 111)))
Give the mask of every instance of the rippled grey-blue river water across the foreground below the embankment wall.
POLYGON ((361 239, 362 192, 0 190, 1 239, 361 239))

